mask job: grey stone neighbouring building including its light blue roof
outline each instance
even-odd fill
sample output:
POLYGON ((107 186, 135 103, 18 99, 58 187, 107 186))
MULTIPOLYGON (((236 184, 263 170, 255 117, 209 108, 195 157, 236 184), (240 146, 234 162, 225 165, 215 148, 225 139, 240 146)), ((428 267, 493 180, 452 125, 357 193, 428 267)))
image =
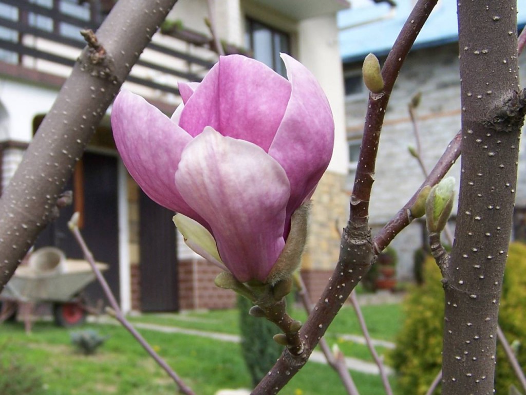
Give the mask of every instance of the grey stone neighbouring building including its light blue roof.
MULTIPOLYGON (((372 52, 383 64, 413 2, 400 0, 396 7, 368 0, 353 1, 352 12, 339 14, 340 45, 345 80, 346 132, 349 148, 348 190, 352 189, 368 92, 361 80, 363 58, 372 52)), ((526 10, 519 8, 519 26, 526 22, 526 10)), ((526 78, 526 57, 519 58, 520 75, 526 78)), ((381 229, 409 200, 424 176, 408 147, 417 147, 409 103, 420 94, 414 110, 421 140, 422 159, 432 169, 451 139, 461 127, 459 48, 456 4, 439 1, 422 28, 393 88, 382 128, 373 184, 370 224, 373 234, 381 229)), ((526 168, 521 162, 515 208, 514 237, 524 239, 526 204, 526 168)), ((519 147, 518 147, 519 148, 519 147)), ((460 180, 460 160, 448 173, 460 180)), ((452 222, 456 216, 453 208, 452 222)), ((398 253, 397 275, 400 280, 413 279, 414 251, 427 244, 424 221, 414 221, 404 229, 392 246, 398 253)))

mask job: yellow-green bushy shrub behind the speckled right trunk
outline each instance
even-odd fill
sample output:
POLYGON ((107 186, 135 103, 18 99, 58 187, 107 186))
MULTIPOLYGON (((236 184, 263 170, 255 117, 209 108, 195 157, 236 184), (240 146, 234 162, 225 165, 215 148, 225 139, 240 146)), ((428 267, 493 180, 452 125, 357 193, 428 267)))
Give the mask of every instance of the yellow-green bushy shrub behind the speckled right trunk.
MULTIPOLYGON (((403 302, 406 315, 397 338, 396 349, 388 358, 399 377, 401 393, 424 395, 441 368, 444 295, 442 276, 434 259, 423 265, 422 286, 414 287, 403 302)), ((513 242, 510 245, 504 273, 499 323, 510 343, 515 345, 520 365, 526 367, 526 246, 513 242)), ((495 390, 508 394, 510 386, 520 388, 520 383, 497 342, 497 368, 495 390)), ((438 395, 440 390, 434 392, 438 395)))

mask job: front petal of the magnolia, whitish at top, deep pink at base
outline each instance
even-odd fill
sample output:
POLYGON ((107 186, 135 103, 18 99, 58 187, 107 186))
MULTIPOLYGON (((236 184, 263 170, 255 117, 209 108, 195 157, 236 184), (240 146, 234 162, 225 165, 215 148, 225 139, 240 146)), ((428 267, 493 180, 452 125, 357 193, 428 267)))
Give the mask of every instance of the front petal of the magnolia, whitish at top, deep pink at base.
POLYGON ((183 151, 175 179, 232 274, 265 280, 285 245, 290 189, 281 166, 258 146, 207 127, 183 151))

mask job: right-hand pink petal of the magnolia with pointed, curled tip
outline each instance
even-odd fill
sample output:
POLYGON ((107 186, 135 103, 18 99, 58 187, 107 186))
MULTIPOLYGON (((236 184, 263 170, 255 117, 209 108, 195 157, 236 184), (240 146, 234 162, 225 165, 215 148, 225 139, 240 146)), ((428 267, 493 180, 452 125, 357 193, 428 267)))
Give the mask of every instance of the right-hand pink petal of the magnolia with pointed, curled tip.
POLYGON ((312 195, 329 165, 334 146, 334 120, 325 93, 309 70, 281 54, 292 93, 268 151, 287 172, 291 196, 288 218, 312 195))

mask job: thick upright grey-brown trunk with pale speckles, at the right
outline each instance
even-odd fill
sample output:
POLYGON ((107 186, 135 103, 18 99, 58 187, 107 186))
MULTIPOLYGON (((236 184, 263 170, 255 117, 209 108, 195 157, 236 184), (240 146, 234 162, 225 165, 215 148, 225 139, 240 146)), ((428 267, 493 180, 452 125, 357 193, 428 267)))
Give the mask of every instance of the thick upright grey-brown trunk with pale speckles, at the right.
POLYGON ((524 94, 511 0, 459 1, 462 166, 442 393, 493 393, 497 318, 513 215, 524 94))

